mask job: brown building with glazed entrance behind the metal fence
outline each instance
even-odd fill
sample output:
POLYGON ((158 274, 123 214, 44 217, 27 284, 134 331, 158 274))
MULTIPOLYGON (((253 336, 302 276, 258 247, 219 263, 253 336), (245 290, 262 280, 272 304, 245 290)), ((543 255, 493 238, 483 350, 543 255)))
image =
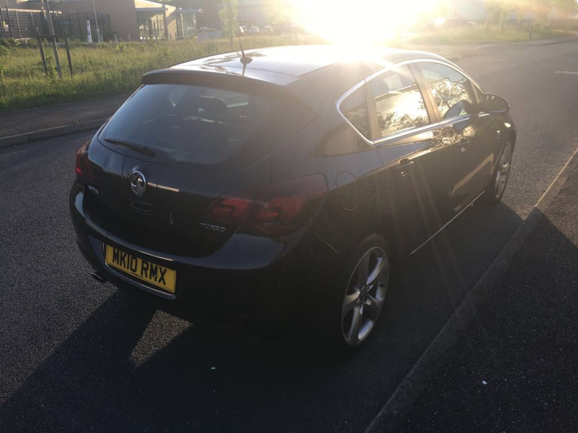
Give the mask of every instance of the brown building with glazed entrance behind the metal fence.
MULTIPOLYGON (((8 7, 43 9, 42 0, 8 0, 8 7)), ((121 40, 190 38, 197 31, 197 14, 202 13, 201 9, 180 9, 149 0, 58 0, 50 1, 50 8, 54 12, 76 13, 79 19, 86 17, 91 21, 94 38, 96 8, 97 13, 108 14, 110 32, 121 40)), ((112 38, 112 35, 105 36, 112 38)))

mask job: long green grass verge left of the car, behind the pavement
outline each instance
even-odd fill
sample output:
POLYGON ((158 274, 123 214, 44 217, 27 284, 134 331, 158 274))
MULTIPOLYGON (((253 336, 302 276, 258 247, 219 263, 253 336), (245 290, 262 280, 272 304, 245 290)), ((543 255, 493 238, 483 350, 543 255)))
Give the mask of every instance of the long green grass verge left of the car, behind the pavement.
MULTIPOLYGON (((312 43, 323 43, 323 40, 302 35, 243 38, 244 48, 312 43)), ((66 50, 64 46, 59 47, 63 77, 58 79, 50 44, 44 44, 45 54, 49 57, 49 78, 42 68, 38 46, 35 43, 19 46, 9 50, 3 60, 0 58, 4 70, 0 82, 0 111, 129 93, 140 85, 140 77, 150 70, 222 53, 229 48, 228 40, 222 39, 119 44, 75 42, 71 43, 72 77, 68 71, 66 50)))

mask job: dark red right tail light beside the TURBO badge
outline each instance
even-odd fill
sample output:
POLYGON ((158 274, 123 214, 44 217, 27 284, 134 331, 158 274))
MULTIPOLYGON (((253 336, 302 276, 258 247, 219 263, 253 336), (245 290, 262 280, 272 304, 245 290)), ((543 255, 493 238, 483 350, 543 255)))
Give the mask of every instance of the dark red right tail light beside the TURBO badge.
POLYGON ((270 185, 260 192, 217 197, 209 207, 209 219, 216 223, 242 224, 265 236, 287 234, 306 221, 327 192, 327 184, 321 174, 313 174, 270 185))

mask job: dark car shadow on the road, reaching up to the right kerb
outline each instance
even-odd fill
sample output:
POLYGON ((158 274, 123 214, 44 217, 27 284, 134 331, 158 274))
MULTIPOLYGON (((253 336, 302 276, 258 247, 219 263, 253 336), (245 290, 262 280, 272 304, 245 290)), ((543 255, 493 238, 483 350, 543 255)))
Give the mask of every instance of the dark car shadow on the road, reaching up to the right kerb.
POLYGON ((407 260, 350 356, 195 323, 135 365, 155 310, 115 292, 0 408, 2 430, 363 431, 520 222, 504 204, 464 212, 407 260))

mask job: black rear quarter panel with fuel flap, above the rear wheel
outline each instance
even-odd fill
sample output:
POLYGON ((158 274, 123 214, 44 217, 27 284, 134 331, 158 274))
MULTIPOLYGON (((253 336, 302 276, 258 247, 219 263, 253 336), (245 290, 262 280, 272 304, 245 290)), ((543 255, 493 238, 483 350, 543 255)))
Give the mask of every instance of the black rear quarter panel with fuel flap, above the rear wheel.
POLYGON ((339 256, 380 231, 388 210, 383 170, 375 148, 346 124, 335 105, 332 110, 324 106, 323 115, 277 148, 272 158, 273 182, 323 174, 328 193, 312 233, 339 256))

